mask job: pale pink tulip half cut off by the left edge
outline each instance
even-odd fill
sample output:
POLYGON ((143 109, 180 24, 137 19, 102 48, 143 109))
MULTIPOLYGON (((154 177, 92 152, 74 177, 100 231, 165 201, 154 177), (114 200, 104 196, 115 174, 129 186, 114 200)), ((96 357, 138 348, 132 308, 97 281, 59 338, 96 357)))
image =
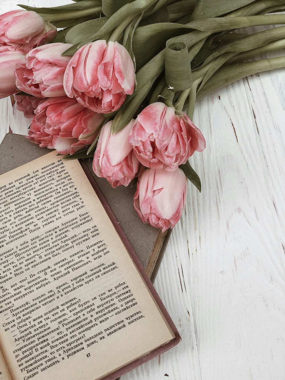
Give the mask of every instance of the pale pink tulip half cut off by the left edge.
POLYGON ((6 98, 13 93, 19 92, 14 75, 15 65, 25 62, 25 55, 16 51, 0 49, 0 98, 6 98))

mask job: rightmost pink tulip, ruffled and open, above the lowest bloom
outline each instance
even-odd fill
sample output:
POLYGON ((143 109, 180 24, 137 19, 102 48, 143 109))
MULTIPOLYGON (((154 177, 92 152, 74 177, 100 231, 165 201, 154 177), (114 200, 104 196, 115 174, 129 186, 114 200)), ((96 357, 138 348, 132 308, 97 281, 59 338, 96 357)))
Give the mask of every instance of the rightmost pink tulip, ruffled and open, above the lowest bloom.
POLYGON ((174 108, 163 103, 152 103, 142 110, 129 141, 142 165, 169 171, 206 146, 201 131, 189 117, 175 114, 174 108))

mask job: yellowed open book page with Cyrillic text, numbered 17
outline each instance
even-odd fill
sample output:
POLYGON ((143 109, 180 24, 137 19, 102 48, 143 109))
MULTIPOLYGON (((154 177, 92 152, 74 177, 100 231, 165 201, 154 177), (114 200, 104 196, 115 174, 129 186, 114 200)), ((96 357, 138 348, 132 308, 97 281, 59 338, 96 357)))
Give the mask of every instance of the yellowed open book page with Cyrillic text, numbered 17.
POLYGON ((0 211, 13 380, 100 379, 174 338, 77 160, 51 152, 3 174, 0 211))

